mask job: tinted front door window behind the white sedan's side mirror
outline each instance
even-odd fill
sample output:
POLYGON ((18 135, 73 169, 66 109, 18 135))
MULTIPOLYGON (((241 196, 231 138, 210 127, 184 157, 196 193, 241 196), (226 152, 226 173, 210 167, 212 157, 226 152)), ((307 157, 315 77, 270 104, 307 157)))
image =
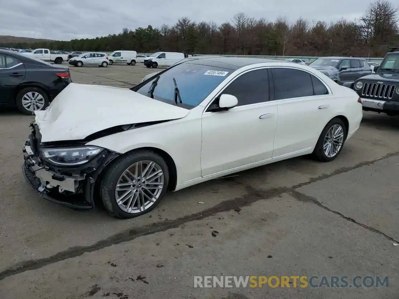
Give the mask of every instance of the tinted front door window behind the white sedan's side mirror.
POLYGON ((267 69, 245 73, 223 90, 238 99, 238 106, 266 102, 269 100, 269 79, 267 69))

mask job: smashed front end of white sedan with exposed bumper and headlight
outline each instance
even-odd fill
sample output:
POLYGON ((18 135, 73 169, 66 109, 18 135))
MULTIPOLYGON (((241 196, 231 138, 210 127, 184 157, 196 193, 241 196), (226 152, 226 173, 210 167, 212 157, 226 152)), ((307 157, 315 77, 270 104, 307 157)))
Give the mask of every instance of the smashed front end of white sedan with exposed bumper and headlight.
POLYGON ((38 125, 23 148, 22 172, 45 199, 73 209, 91 209, 101 171, 120 154, 85 142, 41 143, 38 125))

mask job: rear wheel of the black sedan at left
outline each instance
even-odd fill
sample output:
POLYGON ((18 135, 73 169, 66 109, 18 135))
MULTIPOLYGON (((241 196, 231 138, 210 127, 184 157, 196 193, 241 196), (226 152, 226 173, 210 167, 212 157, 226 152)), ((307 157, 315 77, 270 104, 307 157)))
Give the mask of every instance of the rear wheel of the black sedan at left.
POLYGON ((33 115, 37 110, 44 110, 49 105, 49 99, 44 90, 37 87, 27 87, 18 92, 16 106, 20 112, 33 115))

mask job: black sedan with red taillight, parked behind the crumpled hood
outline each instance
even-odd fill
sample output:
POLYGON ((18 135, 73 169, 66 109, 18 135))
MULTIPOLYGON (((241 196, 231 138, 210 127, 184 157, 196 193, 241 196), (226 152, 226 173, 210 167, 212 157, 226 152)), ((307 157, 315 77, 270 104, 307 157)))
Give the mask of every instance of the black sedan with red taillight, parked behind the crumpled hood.
POLYGON ((0 50, 0 109, 17 107, 28 115, 44 110, 69 83, 69 68, 0 50))

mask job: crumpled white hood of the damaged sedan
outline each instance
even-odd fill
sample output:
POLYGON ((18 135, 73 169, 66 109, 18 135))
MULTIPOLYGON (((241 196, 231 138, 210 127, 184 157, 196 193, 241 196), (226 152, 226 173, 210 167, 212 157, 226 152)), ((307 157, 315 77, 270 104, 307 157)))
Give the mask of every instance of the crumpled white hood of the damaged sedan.
POLYGON ((52 142, 81 140, 114 126, 183 118, 189 111, 126 88, 70 83, 35 114, 41 142, 52 142))

